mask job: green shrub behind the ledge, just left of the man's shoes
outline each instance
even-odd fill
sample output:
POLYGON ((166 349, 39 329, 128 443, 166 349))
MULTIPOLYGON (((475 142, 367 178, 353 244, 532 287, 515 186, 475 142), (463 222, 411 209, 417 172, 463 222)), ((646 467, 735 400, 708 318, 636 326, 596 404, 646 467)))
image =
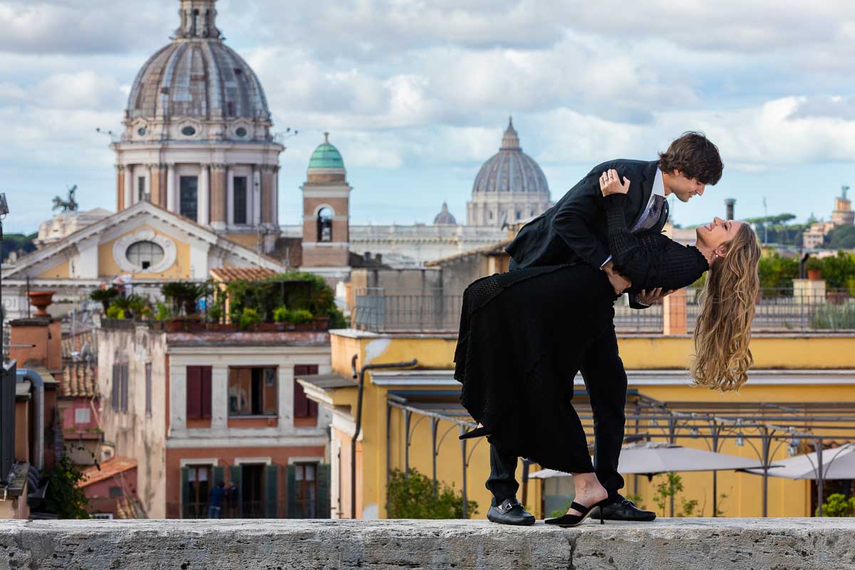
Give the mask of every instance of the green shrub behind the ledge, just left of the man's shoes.
MULTIPOLYGON (((463 493, 428 478, 416 469, 407 477, 395 469, 386 488, 386 514, 390 519, 463 519, 463 493)), ((478 513, 478 503, 467 501, 467 515, 478 513)))

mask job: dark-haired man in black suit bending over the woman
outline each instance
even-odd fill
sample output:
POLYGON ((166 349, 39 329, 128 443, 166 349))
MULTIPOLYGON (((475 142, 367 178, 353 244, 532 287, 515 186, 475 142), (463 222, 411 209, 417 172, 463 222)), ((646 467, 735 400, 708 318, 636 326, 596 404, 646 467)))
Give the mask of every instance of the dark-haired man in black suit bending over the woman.
MULTIPOLYGON (((666 198, 673 194, 681 202, 688 202, 693 196, 702 196, 706 185, 715 185, 721 179, 722 167, 716 145, 699 132, 684 133, 659 154, 657 161, 604 162, 594 167, 555 206, 520 230, 506 248, 511 257, 510 269, 585 262, 606 272, 616 295, 620 295, 631 284, 611 266, 599 179, 616 171, 624 182, 629 182, 624 218, 632 232, 662 232, 668 219, 666 198)), ((640 297, 630 297, 631 307, 645 309, 661 297, 661 291, 643 293, 640 297)), ((653 520, 655 513, 636 508, 618 492, 623 487, 617 461, 623 443, 627 375, 618 355, 614 326, 610 338, 595 344, 584 356, 581 373, 596 426, 594 466, 600 484, 610 497, 603 509, 604 518, 653 520)), ((516 456, 505 455, 491 444, 490 478, 486 487, 493 494, 487 512, 487 518, 493 522, 534 524, 534 516, 516 501, 517 461, 516 456)))

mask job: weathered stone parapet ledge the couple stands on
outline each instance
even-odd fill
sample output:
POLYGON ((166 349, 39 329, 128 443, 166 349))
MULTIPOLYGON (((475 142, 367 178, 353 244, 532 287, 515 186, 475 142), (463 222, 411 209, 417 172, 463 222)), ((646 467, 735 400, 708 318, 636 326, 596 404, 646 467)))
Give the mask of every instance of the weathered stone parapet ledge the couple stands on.
POLYGON ((6 568, 855 569, 855 519, 8 520, 6 568))

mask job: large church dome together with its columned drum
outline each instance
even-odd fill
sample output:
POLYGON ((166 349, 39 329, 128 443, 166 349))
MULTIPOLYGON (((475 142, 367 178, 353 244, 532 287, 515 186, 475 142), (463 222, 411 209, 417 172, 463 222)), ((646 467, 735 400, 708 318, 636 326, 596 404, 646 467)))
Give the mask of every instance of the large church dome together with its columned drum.
POLYGON ((111 144, 116 209, 149 201, 239 243, 261 240, 270 251, 280 232, 285 147, 271 132, 264 90, 223 44, 216 0, 171 2, 180 6, 179 26, 137 73, 125 131, 111 144))

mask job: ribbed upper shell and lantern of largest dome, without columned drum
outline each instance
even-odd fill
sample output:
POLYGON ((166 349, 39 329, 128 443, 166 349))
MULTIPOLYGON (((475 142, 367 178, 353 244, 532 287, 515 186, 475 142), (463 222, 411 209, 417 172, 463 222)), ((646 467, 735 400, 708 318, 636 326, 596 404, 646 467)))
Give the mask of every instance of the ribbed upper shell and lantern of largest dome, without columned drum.
POLYGON ((180 0, 172 42, 145 62, 131 87, 126 138, 269 138, 267 97, 252 68, 223 44, 215 1, 180 0), (158 128, 182 120, 177 128, 158 128))

